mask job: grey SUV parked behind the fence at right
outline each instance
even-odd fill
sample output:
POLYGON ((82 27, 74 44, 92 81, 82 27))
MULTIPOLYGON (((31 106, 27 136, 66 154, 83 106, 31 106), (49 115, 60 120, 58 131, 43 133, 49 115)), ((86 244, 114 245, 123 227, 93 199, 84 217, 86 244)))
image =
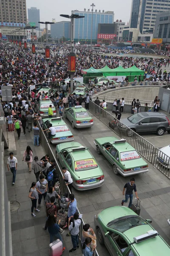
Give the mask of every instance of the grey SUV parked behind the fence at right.
POLYGON ((170 133, 170 120, 161 112, 140 112, 121 122, 136 133, 156 133, 159 136, 165 131, 170 133))

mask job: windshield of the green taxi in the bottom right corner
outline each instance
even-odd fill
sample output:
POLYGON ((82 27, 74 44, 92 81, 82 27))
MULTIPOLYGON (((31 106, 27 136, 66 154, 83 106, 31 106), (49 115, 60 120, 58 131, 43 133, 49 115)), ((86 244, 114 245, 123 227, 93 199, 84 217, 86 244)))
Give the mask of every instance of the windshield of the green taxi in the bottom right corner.
POLYGON ((127 217, 118 218, 117 220, 110 221, 107 224, 107 227, 113 228, 114 230, 117 230, 123 233, 132 227, 137 227, 137 226, 146 225, 146 224, 147 224, 147 221, 143 220, 139 216, 127 216, 127 217))

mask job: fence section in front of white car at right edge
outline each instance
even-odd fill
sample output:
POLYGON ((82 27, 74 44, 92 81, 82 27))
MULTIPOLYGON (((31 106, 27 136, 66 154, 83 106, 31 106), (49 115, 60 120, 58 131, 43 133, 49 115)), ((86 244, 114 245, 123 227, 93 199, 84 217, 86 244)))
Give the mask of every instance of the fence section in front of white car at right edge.
POLYGON ((170 178, 170 157, 162 153, 159 148, 156 148, 155 150, 155 154, 153 156, 153 166, 170 178))

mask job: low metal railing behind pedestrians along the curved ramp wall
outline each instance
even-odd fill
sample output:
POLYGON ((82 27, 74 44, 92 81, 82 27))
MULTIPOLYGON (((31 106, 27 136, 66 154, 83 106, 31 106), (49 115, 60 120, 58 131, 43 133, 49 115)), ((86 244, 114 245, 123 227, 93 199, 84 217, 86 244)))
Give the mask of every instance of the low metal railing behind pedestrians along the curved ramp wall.
MULTIPOLYGON (((111 96, 100 96, 100 95, 93 95, 91 96, 92 101, 94 101, 95 99, 97 99, 97 97, 99 98, 99 101, 103 101, 103 99, 105 100, 105 102, 111 102, 113 103, 115 99, 119 99, 120 97, 111 97, 111 96)), ((125 98, 125 104, 127 105, 131 105, 133 99, 127 99, 125 98)), ((145 106, 145 103, 147 103, 148 107, 153 107, 153 101, 150 100, 140 100, 140 104, 141 106, 145 106)))

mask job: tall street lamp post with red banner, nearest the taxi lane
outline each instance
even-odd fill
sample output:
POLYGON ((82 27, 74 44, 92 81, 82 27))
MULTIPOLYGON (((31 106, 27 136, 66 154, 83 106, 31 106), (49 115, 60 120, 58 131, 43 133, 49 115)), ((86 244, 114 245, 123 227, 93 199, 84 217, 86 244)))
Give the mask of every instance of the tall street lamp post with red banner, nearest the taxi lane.
POLYGON ((74 26, 74 19, 80 19, 80 18, 84 18, 85 16, 80 16, 78 14, 71 14, 71 15, 65 15, 65 14, 60 14, 61 17, 65 17, 68 19, 71 19, 71 52, 69 55, 69 59, 68 59, 68 67, 69 67, 69 73, 70 73, 70 82, 71 82, 71 93, 73 92, 73 75, 75 73, 74 70, 71 71, 72 67, 71 67, 71 60, 73 61, 73 66, 75 65, 75 60, 73 60, 73 58, 75 58, 75 54, 74 54, 74 36, 73 36, 73 26, 74 26))

